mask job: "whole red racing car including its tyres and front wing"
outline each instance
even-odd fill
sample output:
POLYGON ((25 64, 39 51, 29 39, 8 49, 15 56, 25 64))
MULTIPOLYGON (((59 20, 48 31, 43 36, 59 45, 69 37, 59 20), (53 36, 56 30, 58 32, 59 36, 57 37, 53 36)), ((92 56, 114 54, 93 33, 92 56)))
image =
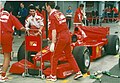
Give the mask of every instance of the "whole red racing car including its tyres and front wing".
MULTIPOLYGON (((92 61, 106 54, 117 54, 119 51, 119 38, 117 35, 109 35, 109 27, 75 27, 71 37, 71 52, 82 73, 88 71, 90 60, 92 61), (82 31, 85 32, 86 37, 83 37, 82 31)), ((52 53, 49 51, 47 40, 43 40, 42 48, 40 52, 28 52, 27 67, 28 73, 31 75, 38 75, 41 65, 41 70, 46 76, 51 72, 49 63, 52 53), (41 53, 42 57, 40 56, 41 53)), ((25 43, 19 48, 17 58, 18 62, 11 66, 10 73, 22 74, 25 72, 25 43)), ((59 59, 57 66, 57 77, 66 78, 73 73, 72 66, 67 62, 63 51, 63 56, 59 59)))

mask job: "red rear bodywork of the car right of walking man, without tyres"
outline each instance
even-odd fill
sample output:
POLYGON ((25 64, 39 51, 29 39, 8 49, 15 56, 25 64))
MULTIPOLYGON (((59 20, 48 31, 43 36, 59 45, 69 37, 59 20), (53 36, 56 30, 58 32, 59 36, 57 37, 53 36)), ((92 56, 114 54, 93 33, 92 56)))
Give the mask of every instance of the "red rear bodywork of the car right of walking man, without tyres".
POLYGON ((74 29, 73 35, 77 35, 77 42, 72 46, 87 46, 92 48, 91 61, 101 57, 101 48, 108 43, 109 27, 99 26, 79 26, 74 29), (81 36, 82 29, 87 35, 86 38, 81 36))

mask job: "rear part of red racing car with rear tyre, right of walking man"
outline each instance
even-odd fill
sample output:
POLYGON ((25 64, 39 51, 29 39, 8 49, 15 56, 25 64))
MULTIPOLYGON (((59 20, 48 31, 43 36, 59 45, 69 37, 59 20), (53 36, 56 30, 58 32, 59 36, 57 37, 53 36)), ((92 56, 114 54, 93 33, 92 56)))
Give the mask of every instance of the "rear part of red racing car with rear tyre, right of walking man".
POLYGON ((116 55, 119 52, 119 37, 117 35, 110 35, 109 32, 109 27, 75 27, 72 40, 75 42, 75 47, 88 47, 92 61, 103 55, 116 55), (81 37, 81 29, 85 32, 86 38, 81 37))

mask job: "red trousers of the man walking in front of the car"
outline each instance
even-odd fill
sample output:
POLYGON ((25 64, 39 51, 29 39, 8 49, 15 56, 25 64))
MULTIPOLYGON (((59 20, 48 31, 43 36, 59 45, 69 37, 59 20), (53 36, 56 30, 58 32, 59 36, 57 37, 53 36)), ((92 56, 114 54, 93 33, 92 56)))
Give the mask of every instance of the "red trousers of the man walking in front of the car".
POLYGON ((51 74, 54 76, 56 75, 57 71, 57 64, 59 58, 62 56, 62 52, 65 52, 65 56, 68 59, 68 62, 71 66, 73 66, 73 70, 78 72, 80 69, 71 53, 71 37, 68 30, 62 31, 57 35, 57 42, 55 45, 55 51, 53 56, 51 57, 51 74))

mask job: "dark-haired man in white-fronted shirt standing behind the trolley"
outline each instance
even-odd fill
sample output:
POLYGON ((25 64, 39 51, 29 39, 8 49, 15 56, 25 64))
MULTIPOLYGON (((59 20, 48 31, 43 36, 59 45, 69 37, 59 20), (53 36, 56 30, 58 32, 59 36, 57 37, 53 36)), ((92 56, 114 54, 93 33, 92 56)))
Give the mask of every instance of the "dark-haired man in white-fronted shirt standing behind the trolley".
POLYGON ((44 28, 44 18, 42 14, 40 14, 34 5, 29 6, 29 15, 25 20, 25 27, 27 29, 38 29, 38 31, 31 31, 31 35, 39 35, 40 33, 43 33, 44 28))

